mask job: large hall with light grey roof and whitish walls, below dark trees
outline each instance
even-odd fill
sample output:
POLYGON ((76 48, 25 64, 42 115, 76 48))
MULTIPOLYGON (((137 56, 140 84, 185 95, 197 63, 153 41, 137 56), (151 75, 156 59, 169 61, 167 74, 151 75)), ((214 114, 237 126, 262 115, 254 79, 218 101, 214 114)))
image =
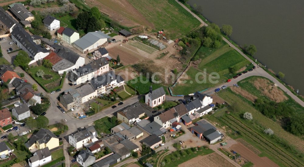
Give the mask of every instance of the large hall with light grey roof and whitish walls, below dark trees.
POLYGON ((76 40, 73 46, 82 53, 87 53, 89 50, 102 46, 109 38, 111 37, 101 31, 89 32, 76 40))

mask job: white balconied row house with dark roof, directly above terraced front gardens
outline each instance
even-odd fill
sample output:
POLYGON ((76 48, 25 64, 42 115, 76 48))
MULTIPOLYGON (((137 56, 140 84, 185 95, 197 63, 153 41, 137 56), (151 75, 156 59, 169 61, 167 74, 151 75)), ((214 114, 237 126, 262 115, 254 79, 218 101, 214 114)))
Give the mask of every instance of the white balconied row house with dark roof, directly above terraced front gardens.
POLYGON ((120 75, 115 75, 114 71, 109 71, 90 80, 97 94, 102 94, 110 91, 116 86, 123 85, 124 80, 120 75))

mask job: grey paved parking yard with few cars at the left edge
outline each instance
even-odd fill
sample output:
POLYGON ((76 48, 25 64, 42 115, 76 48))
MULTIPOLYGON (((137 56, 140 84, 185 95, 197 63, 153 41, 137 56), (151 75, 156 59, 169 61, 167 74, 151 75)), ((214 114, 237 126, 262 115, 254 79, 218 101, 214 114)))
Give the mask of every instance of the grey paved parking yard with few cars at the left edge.
POLYGON ((10 42, 13 42, 12 39, 5 37, 5 40, 0 41, 0 45, 3 57, 12 64, 18 52, 8 53, 7 50, 9 48, 12 48, 13 51, 18 50, 19 47, 15 43, 9 44, 10 42))

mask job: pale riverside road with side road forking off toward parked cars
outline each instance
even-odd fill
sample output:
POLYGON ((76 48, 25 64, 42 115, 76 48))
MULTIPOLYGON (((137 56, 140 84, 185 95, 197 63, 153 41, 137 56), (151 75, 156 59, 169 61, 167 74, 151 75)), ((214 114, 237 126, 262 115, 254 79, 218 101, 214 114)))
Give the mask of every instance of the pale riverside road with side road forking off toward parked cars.
MULTIPOLYGON (((183 8, 185 8, 188 12, 190 12, 195 18, 197 18, 203 25, 208 26, 208 24, 206 24, 201 18, 199 18, 199 16, 195 15, 193 12, 191 12, 191 10, 189 10, 185 5, 183 5, 181 2, 179 2, 178 0, 175 0, 176 2, 178 2, 183 8)), ((249 57, 247 57, 240 49, 238 49, 237 47, 235 47, 232 43, 230 43, 229 40, 227 40, 226 38, 223 37, 223 40, 228 43, 231 47, 233 47, 233 49, 237 50, 237 52, 239 52, 242 56, 244 56, 248 61, 253 62, 249 57)), ((255 62, 253 62, 253 64, 257 67, 257 64, 255 62)), ((294 99, 296 102, 298 102, 301 106, 304 107, 304 102, 299 99, 297 96, 295 96, 291 91, 289 91, 282 83, 280 83, 276 78, 274 78, 273 76, 271 76, 270 74, 268 74, 266 71, 264 71, 263 68, 257 68, 254 70, 255 72, 249 72, 249 75, 242 75, 241 77, 238 77, 236 79, 236 81, 240 81, 241 79, 244 79, 246 77, 249 76, 254 76, 254 74, 257 74, 258 76, 262 76, 265 78, 270 79, 271 81, 273 81, 278 87, 280 87, 284 92, 286 92, 289 96, 292 97, 292 99, 294 99)), ((247 73, 248 74, 248 73, 247 73)), ((233 84, 235 84, 235 79, 233 79, 234 82, 230 82, 226 85, 231 86, 233 84)), ((225 85, 225 84, 223 84, 225 85)), ((209 90, 212 91, 212 90, 209 90)), ((208 92, 209 92, 208 91, 208 92)), ((214 89, 213 89, 214 91, 214 89)), ((210 93, 210 92, 209 92, 210 93)))

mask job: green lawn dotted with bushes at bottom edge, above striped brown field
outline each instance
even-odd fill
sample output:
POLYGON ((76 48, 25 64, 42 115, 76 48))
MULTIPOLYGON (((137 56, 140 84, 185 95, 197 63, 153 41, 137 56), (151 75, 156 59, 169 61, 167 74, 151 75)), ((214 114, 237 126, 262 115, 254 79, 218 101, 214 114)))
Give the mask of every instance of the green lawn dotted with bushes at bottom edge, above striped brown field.
POLYGON ((186 162, 192 158, 195 158, 199 155, 208 155, 214 152, 211 149, 205 149, 203 147, 200 147, 198 151, 195 150, 196 148, 187 148, 185 150, 180 150, 180 151, 174 151, 168 155, 166 155, 163 159, 165 162, 165 167, 166 166, 178 166, 179 164, 186 162), (196 153, 194 152, 196 151, 196 153))

